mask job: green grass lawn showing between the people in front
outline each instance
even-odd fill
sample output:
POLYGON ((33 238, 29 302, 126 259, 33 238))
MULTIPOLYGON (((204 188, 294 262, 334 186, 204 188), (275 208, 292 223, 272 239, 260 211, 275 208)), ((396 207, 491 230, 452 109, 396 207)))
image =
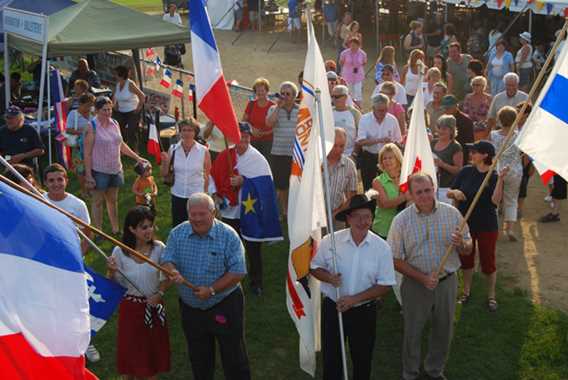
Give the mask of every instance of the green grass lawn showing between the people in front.
MULTIPOLYGON (((156 167, 155 167, 155 171, 156 167)), ((130 185, 134 179, 126 168, 126 182, 120 196, 120 216, 134 205, 130 185)), ((70 189, 76 191, 76 185, 70 189)), ((169 231, 168 189, 160 186, 158 236, 167 239, 169 231)), ((105 221, 108 230, 108 221, 105 221)), ((108 243, 102 245, 110 253, 108 243)), ((246 292, 246 340, 253 378, 271 380, 309 379, 298 366, 298 335, 285 304, 284 279, 287 268, 287 242, 264 246, 265 292, 258 298, 246 292)), ((104 262, 87 256, 89 265, 104 273, 104 262)), ((499 310, 485 309, 485 288, 475 278, 473 298, 456 312, 455 337, 448 361, 447 375, 461 380, 560 380, 568 379, 568 316, 533 305, 520 291, 498 289, 499 310)), ((172 369, 161 379, 191 379, 185 340, 180 327, 176 290, 166 295, 169 316, 172 369)), ((377 342, 373 373, 376 379, 398 379, 401 367, 402 324, 394 296, 389 295, 377 319, 377 342)), ((90 368, 101 379, 119 379, 116 374, 116 316, 94 339, 102 359, 90 368)), ((217 361, 218 376, 223 378, 217 361)), ((321 359, 318 359, 321 365, 321 359)), ((318 368, 321 378, 321 368, 318 368)))

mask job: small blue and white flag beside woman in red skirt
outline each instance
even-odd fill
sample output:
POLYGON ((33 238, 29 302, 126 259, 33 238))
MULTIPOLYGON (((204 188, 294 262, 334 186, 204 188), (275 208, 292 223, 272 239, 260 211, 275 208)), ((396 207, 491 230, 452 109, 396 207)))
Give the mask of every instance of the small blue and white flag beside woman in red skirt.
POLYGON ((91 336, 95 336, 120 304, 126 289, 88 267, 85 267, 85 279, 89 292, 91 336))

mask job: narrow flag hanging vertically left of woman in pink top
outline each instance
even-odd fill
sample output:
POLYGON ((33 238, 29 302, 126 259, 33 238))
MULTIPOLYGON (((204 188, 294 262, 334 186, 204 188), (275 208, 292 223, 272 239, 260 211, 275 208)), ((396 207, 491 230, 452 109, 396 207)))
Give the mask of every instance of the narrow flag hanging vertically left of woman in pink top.
POLYGON ((71 168, 71 148, 65 144, 65 129, 67 125, 67 102, 63 92, 63 81, 59 70, 51 70, 49 77, 51 88, 51 101, 55 109, 55 128, 57 135, 57 160, 67 169, 71 168))

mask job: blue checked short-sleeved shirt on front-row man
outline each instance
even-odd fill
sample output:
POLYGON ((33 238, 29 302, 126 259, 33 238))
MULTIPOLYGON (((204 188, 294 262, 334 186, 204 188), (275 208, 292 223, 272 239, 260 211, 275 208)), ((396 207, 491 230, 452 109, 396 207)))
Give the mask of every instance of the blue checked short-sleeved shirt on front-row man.
MULTIPOLYGON (((203 237, 193 232, 189 222, 175 227, 170 232, 161 262, 174 264, 195 286, 211 286, 227 272, 247 273, 245 250, 239 235, 218 220, 213 221, 213 226, 203 237)), ((205 310, 221 302, 237 287, 218 292, 207 300, 200 300, 183 284, 178 285, 178 293, 187 305, 205 310)))

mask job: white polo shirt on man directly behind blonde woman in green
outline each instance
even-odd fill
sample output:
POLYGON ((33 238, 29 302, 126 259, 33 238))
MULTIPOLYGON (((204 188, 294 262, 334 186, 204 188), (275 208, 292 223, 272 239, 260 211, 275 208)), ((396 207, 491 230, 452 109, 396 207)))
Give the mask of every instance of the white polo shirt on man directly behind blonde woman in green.
MULTIPOLYGON (((398 125, 396 117, 387 113, 383 121, 379 123, 373 112, 368 112, 361 116, 359 130, 357 131, 357 141, 365 139, 384 139, 387 137, 395 143, 402 141, 400 126, 398 125)), ((365 145, 363 150, 372 154, 378 154, 384 145, 384 143, 365 145)))

